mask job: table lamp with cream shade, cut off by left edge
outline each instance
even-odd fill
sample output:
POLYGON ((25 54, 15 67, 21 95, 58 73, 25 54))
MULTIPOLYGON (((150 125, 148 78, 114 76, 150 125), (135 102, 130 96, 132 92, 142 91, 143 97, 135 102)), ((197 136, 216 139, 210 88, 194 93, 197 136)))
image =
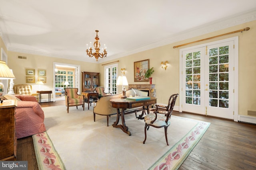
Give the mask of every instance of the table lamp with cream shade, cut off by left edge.
MULTIPOLYGON (((5 61, 0 61, 0 79, 15 78, 10 68, 6 65, 5 61)), ((2 95, 4 93, 4 84, 0 82, 0 100, 2 103, 2 95)))

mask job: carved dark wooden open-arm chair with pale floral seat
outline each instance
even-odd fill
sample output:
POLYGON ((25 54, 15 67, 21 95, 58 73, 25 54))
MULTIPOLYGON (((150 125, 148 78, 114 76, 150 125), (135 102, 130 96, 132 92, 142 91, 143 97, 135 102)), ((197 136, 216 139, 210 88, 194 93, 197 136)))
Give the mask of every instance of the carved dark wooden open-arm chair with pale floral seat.
POLYGON ((152 126, 152 127, 156 127, 156 128, 164 127, 166 143, 167 143, 167 145, 169 145, 168 139, 167 139, 167 128, 170 125, 170 117, 172 115, 172 110, 174 108, 177 97, 178 97, 178 94, 173 94, 172 96, 170 96, 169 102, 168 102, 168 103, 170 103, 170 105, 167 107, 166 110, 164 110, 164 111, 158 110, 159 109, 158 105, 156 105, 156 111, 154 111, 154 113, 150 113, 144 117, 145 139, 143 141, 143 144, 145 144, 146 139, 147 139, 146 131, 149 129, 150 126, 152 126))

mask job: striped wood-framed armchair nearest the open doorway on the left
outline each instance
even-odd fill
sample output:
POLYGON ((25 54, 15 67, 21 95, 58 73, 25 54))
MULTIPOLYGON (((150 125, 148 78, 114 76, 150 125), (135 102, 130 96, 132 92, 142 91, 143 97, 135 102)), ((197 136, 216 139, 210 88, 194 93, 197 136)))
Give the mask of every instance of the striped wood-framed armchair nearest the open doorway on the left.
POLYGON ((65 101, 66 101, 66 106, 67 111, 70 106, 80 106, 84 108, 84 96, 77 94, 78 93, 78 88, 66 88, 65 89, 65 101))

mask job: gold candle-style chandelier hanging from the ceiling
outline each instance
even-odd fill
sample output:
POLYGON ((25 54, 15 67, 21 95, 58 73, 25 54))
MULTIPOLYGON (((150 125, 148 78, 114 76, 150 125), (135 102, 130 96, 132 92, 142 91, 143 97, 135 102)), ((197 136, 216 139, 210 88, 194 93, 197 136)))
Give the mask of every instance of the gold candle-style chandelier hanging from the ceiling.
POLYGON ((104 50, 102 48, 102 53, 100 53, 100 42, 98 42, 99 37, 98 37, 98 30, 95 30, 96 32, 96 37, 95 37, 95 42, 94 42, 94 49, 95 49, 95 53, 92 53, 92 42, 90 42, 90 49, 88 50, 88 44, 86 44, 87 49, 86 49, 86 53, 89 57, 95 57, 96 61, 98 61, 98 58, 103 58, 103 57, 107 57, 107 51, 106 51, 106 45, 104 44, 104 50))

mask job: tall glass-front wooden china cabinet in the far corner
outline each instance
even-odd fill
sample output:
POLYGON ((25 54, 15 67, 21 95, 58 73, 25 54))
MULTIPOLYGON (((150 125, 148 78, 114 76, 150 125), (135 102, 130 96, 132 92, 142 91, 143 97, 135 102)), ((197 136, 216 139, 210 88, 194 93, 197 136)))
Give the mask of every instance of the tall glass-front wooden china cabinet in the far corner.
POLYGON ((82 72, 82 92, 93 92, 95 87, 100 84, 100 73, 98 72, 82 72))

